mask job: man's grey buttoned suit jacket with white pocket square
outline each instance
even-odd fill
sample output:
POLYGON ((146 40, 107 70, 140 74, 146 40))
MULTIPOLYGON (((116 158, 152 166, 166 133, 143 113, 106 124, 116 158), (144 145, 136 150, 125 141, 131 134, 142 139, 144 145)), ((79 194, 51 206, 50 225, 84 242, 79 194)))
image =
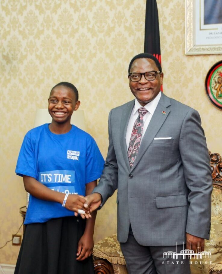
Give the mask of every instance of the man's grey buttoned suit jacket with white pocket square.
POLYGON ((212 177, 198 112, 161 94, 130 170, 125 135, 133 107, 134 100, 110 111, 108 154, 93 191, 104 204, 118 188, 118 240, 127 241, 130 224, 147 246, 186 243, 186 232, 209 239, 212 177))

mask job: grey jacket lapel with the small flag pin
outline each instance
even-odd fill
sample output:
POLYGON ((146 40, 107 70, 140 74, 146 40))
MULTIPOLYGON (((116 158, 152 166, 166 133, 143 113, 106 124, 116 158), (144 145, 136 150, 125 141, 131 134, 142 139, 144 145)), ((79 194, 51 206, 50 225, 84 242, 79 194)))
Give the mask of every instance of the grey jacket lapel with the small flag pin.
POLYGON ((133 164, 131 171, 136 167, 137 163, 139 163, 145 151, 148 149, 149 145, 153 141, 157 132, 161 128, 162 124, 166 120, 168 114, 170 113, 170 109, 167 108, 170 106, 170 99, 161 94, 160 101, 154 111, 153 117, 150 120, 149 126, 146 129, 146 132, 142 138, 142 142, 139 147, 139 152, 137 154, 136 160, 133 164))

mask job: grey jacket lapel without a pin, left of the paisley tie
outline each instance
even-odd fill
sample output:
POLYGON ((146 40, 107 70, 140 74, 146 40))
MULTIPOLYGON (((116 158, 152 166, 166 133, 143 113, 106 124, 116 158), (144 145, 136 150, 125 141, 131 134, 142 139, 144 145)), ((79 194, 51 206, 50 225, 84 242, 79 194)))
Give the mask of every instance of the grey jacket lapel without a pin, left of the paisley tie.
POLYGON ((120 126, 120 145, 123 153, 124 160, 126 162, 127 168, 130 171, 130 164, 128 159, 128 148, 126 144, 126 132, 127 132, 127 125, 130 119, 130 114, 133 110, 135 104, 135 100, 130 101, 126 108, 123 109, 122 118, 121 118, 121 126, 120 126))

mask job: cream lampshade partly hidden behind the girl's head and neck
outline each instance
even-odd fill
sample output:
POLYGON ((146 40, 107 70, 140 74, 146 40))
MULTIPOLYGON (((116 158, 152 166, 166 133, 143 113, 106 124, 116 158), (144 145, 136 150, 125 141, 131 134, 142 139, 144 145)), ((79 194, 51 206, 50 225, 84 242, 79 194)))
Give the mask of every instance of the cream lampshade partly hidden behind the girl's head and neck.
MULTIPOLYGON (((41 126, 42 124, 51 122, 52 117, 48 113, 47 108, 39 108, 36 110, 34 127, 41 126)), ((71 124, 86 131, 86 121, 84 118, 84 112, 82 110, 73 111, 73 115, 71 117, 71 124)))

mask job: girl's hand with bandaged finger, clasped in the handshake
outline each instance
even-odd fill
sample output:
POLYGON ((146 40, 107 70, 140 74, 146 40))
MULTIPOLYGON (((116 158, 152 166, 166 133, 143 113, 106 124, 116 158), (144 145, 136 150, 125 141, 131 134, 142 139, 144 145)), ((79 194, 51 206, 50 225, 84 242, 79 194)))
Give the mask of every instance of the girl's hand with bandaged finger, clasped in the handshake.
POLYGON ((79 209, 84 210, 86 213, 85 214, 80 214, 80 216, 83 219, 91 218, 91 214, 83 206, 85 201, 86 201, 86 199, 82 195, 77 195, 77 194, 68 195, 66 203, 65 203, 65 208, 68 209, 68 210, 74 211, 75 216, 78 216, 78 210, 79 209))

